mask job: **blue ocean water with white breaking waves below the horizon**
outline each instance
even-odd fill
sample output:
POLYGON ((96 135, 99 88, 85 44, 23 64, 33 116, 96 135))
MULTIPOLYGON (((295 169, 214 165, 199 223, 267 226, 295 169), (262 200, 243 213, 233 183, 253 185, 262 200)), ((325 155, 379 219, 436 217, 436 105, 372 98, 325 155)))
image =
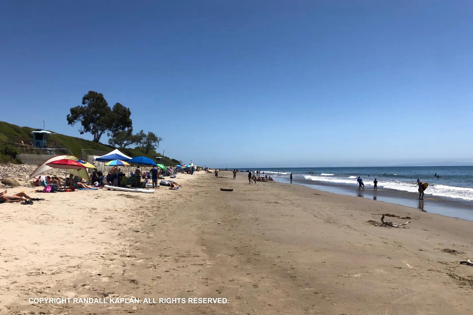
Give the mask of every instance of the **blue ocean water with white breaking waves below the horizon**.
MULTIPOLYGON (((242 170, 242 169, 240 169, 242 170)), ((254 169, 256 170, 256 169, 254 169)), ((473 166, 418 167, 332 167, 332 168, 262 168, 268 176, 303 180, 306 183, 353 186, 361 176, 366 189, 372 189, 375 178, 378 190, 417 193, 416 180, 429 183, 426 196, 473 204, 473 166), (313 172, 313 175, 309 175, 313 172), (434 174, 440 175, 435 178, 434 174)))

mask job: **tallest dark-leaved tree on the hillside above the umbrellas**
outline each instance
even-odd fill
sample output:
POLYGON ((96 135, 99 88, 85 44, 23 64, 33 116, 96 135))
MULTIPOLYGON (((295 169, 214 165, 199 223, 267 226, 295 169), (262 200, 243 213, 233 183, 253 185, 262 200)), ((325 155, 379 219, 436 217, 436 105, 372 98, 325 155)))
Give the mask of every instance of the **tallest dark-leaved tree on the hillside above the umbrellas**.
POLYGON ((74 126, 80 121, 80 134, 91 133, 94 142, 98 143, 105 132, 110 136, 131 128, 130 109, 120 103, 116 103, 111 109, 102 93, 89 91, 82 97, 82 105, 70 109, 67 122, 74 126))

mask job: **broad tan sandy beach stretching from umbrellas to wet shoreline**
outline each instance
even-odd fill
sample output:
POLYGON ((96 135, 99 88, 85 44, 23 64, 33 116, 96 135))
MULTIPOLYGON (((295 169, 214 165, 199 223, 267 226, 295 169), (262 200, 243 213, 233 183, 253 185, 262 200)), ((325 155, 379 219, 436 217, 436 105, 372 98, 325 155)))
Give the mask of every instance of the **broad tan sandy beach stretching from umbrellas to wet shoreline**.
MULTIPOLYGON (((459 261, 473 258, 473 222, 219 175, 179 175, 179 190, 152 195, 0 204, 0 314, 472 314, 473 267, 459 261), (412 223, 367 222, 381 213, 412 223), (41 297, 228 303, 28 303, 41 297)), ((33 188, 9 192, 20 190, 33 188)))

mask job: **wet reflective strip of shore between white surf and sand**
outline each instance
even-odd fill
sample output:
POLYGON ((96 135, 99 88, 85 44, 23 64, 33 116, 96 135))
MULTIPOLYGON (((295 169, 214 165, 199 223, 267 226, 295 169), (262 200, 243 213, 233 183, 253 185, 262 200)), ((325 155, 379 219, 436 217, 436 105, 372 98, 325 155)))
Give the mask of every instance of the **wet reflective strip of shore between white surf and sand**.
MULTIPOLYGON (((289 183, 289 178, 272 177, 274 181, 289 183)), ((346 196, 358 196, 375 201, 398 204, 419 209, 423 212, 440 214, 442 216, 473 221, 473 204, 463 201, 449 200, 431 195, 425 195, 424 200, 418 199, 417 193, 403 192, 394 189, 381 188, 377 191, 373 189, 358 189, 357 185, 342 185, 322 183, 310 179, 292 180, 293 184, 309 187, 316 190, 327 191, 334 194, 346 196), (356 187, 355 187, 356 186, 356 187)))

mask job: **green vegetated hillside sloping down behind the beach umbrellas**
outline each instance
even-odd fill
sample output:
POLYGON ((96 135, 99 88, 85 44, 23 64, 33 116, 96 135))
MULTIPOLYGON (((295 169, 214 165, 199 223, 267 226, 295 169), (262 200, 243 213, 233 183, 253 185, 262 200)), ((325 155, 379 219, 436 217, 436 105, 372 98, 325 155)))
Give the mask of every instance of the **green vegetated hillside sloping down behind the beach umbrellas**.
MULTIPOLYGON (((17 125, 9 124, 8 122, 0 121, 0 140, 10 141, 21 143, 21 140, 28 145, 30 141, 33 140, 31 132, 36 130, 35 128, 30 127, 19 127, 17 125)), ((53 130, 49 130, 55 133, 53 130)), ((72 154, 77 155, 80 157, 80 151, 82 149, 93 149, 93 150, 100 150, 105 152, 110 152, 114 149, 111 145, 104 145, 101 143, 95 143, 90 140, 73 137, 73 136, 65 136, 61 134, 50 135, 48 139, 48 146, 53 145, 53 140, 56 140, 56 144, 58 148, 67 148, 69 149, 72 154)), ((120 148, 120 151, 129 155, 129 156, 147 156, 155 160, 156 156, 161 156, 161 154, 156 152, 151 152, 147 155, 143 154, 138 149, 130 149, 130 148, 120 148)), ((167 156, 163 157, 163 162, 166 166, 171 166, 178 164, 179 161, 175 159, 170 159, 167 156)))

